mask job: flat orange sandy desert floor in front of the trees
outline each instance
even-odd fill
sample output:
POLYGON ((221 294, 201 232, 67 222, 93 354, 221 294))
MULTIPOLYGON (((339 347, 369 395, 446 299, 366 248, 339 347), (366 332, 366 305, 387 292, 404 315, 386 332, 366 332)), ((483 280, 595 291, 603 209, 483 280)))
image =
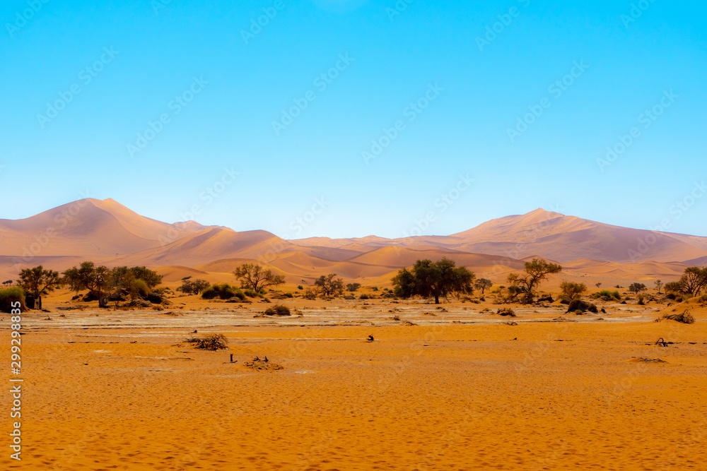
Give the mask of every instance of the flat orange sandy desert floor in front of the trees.
POLYGON ((707 469, 704 308, 683 325, 654 322, 665 306, 509 319, 468 303, 285 304, 303 316, 224 303, 24 314, 23 460, 4 433, 0 467, 707 469), (229 350, 182 343, 193 330, 229 350), (284 369, 247 369, 255 356, 284 369))

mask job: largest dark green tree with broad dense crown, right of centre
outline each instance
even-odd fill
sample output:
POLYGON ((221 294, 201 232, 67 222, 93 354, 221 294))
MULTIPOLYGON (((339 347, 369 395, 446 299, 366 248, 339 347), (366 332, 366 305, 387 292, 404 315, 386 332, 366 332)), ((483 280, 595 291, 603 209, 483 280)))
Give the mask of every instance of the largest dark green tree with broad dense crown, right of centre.
POLYGON ((449 258, 440 261, 418 260, 411 270, 402 268, 392 279, 397 297, 434 297, 440 304, 440 297, 451 293, 465 294, 474 290, 476 275, 464 267, 456 267, 449 258))

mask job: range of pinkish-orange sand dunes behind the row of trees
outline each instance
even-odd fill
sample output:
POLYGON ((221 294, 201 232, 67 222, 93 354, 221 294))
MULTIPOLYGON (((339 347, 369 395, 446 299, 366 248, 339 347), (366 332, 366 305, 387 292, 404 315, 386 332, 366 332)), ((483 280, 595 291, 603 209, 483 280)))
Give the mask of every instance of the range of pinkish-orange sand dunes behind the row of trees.
POLYGON ((23 220, 0 220, 0 247, 0 278, 16 278, 28 266, 65 270, 90 259, 109 267, 163 267, 169 280, 177 276, 175 266, 230 273, 237 264, 257 261, 288 282, 325 273, 380 281, 420 258, 448 256, 479 276, 503 282, 524 261, 542 256, 562 263, 572 279, 622 282, 677 279, 686 266, 682 261, 707 263, 707 237, 604 225, 542 209, 450 236, 286 241, 262 230, 236 232, 194 221, 168 224, 111 199, 85 199, 23 220))

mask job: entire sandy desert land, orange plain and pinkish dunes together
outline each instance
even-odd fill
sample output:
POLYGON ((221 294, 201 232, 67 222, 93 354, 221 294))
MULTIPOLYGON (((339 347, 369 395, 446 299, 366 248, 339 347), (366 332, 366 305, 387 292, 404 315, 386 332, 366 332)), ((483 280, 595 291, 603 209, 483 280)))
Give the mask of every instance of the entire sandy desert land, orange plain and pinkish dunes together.
MULTIPOLYGON (((86 258, 77 246, 96 265, 142 261, 160 277, 160 296, 99 306, 86 290, 59 286, 41 310, 22 313, 25 446, 21 463, 2 458, 6 469, 703 469, 707 299, 655 287, 681 278, 702 239, 654 234, 680 247, 680 262, 568 261, 566 247, 544 237, 606 229, 538 210, 486 223, 470 231, 473 242, 271 242, 192 223, 160 245, 165 223, 115 201, 72 204, 81 211, 32 262, 66 274, 86 258), (530 303, 509 299, 507 280, 532 257, 461 250, 483 251, 484 239, 502 239, 498 231, 532 234, 516 244, 518 256, 562 261, 530 303), (108 255, 121 249, 136 253, 108 255), (490 285, 440 304, 395 294, 399 270, 445 257, 490 285), (230 272, 247 263, 264 263, 281 283, 230 299, 182 290, 194 280, 204 280, 201 290, 235 289, 230 272), (320 273, 344 274, 341 291, 322 294, 320 273), (631 281, 643 290, 629 292, 631 281), (591 283, 575 299, 596 312, 569 306, 566 282, 591 283), (286 315, 269 310, 279 306, 286 315), (692 323, 666 318, 684 313, 692 323), (190 342, 212 335, 223 348, 190 342)), ((70 208, 0 225, 31 240, 70 208)), ((18 263, 4 277, 23 266, 4 259, 18 263)), ((2 317, 9 331, 10 315, 2 317)))

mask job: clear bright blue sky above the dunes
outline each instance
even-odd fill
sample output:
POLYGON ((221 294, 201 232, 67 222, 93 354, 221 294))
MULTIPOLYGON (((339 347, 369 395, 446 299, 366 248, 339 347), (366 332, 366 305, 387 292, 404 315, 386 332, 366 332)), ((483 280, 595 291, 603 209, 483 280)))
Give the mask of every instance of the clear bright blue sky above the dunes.
POLYGON ((6 0, 0 218, 88 196, 288 239, 453 234, 536 208, 707 236, 706 13, 6 0))

